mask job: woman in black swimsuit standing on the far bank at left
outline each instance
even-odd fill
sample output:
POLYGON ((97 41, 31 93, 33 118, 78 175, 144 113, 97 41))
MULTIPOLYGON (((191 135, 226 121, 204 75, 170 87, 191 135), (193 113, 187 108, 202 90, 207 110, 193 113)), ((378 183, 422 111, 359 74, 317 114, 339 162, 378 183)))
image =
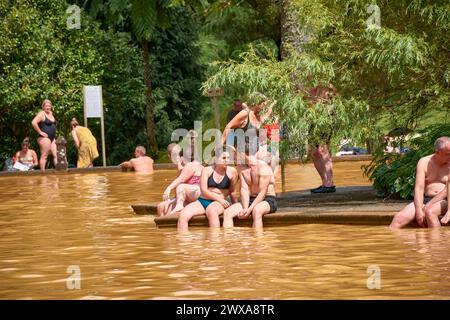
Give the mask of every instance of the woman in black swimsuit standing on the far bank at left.
POLYGON ((39 134, 38 144, 41 150, 39 166, 41 170, 45 170, 49 152, 52 153, 53 163, 56 166, 56 119, 53 116, 52 103, 50 100, 46 99, 42 102, 42 111, 39 111, 31 124, 34 130, 39 134))

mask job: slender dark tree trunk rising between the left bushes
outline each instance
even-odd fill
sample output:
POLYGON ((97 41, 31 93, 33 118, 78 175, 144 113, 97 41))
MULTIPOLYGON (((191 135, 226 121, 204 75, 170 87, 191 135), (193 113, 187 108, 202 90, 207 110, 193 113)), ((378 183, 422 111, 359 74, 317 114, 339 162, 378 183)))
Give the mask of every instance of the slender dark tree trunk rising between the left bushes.
POLYGON ((153 119, 153 98, 152 98, 152 79, 150 75, 150 49, 147 40, 142 40, 142 50, 144 52, 144 83, 145 83, 145 102, 147 115, 147 142, 148 146, 154 151, 158 151, 158 144, 155 136, 155 121, 153 119))

